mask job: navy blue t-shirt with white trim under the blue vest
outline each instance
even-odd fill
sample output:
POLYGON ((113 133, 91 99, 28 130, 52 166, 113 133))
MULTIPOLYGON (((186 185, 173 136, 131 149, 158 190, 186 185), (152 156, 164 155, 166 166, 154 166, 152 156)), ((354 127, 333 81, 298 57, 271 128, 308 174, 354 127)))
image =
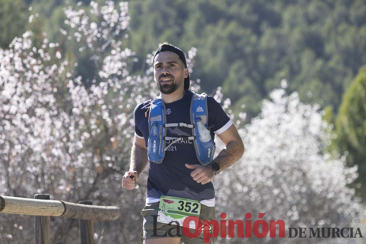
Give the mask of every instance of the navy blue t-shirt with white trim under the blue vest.
MULTIPOLYGON (((193 93, 185 90, 184 96, 178 101, 166 103, 166 123, 187 123, 190 121, 190 105, 193 93)), ((134 110, 135 134, 139 138, 149 138, 148 116, 145 112, 152 99, 138 104, 134 110)), ((208 126, 213 125, 212 133, 220 134, 232 125, 221 105, 213 97, 207 98, 208 126)), ((167 127, 168 137, 191 136, 190 128, 167 127)), ((168 145, 172 140, 167 140, 168 145)), ((215 192, 212 182, 202 185, 191 177, 193 169, 185 164, 200 164, 192 140, 179 141, 172 144, 161 164, 149 162, 149 177, 147 179, 146 203, 158 202, 161 195, 179 196, 201 201, 207 206, 214 206, 215 192)))

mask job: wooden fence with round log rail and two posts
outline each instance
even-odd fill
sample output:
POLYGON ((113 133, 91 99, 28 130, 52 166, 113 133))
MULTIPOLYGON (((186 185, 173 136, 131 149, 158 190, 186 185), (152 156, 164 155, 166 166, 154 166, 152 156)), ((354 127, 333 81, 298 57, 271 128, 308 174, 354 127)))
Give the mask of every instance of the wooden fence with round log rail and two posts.
POLYGON ((49 200, 49 194, 36 194, 34 198, 0 196, 0 213, 34 215, 36 244, 50 243, 49 216, 80 219, 82 244, 94 243, 94 220, 115 220, 119 217, 119 208, 115 206, 96 206, 90 201, 49 200))

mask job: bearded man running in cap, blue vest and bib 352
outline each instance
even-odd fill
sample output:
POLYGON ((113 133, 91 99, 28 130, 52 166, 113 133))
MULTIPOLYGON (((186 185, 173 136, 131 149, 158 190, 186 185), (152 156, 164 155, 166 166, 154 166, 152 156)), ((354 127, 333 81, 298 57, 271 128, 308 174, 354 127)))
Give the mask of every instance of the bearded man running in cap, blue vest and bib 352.
MULTIPOLYGON (((134 110, 130 170, 124 174, 122 186, 134 189, 149 164, 141 240, 146 244, 179 244, 180 241, 201 244, 203 233, 188 238, 182 225, 168 224, 168 220, 179 223, 185 215, 199 215, 201 220, 216 219, 212 179, 242 157, 244 145, 235 125, 214 98, 207 96, 203 100, 204 95, 188 90, 190 79, 182 50, 164 42, 156 51, 153 65, 160 96, 138 104, 134 110), (206 107, 192 109, 196 99, 206 101, 206 107), (160 112, 162 116, 152 117, 160 112), (205 116, 201 118, 212 140, 216 134, 226 145, 207 165, 203 165, 205 158, 199 159, 207 152, 198 146, 201 142, 195 133, 195 124, 201 121, 193 117, 201 112, 207 114, 207 121, 205 116), (157 128, 154 132, 157 134, 153 134, 153 127, 157 128)), ((210 155, 213 151, 209 149, 209 158, 213 157, 210 155)))

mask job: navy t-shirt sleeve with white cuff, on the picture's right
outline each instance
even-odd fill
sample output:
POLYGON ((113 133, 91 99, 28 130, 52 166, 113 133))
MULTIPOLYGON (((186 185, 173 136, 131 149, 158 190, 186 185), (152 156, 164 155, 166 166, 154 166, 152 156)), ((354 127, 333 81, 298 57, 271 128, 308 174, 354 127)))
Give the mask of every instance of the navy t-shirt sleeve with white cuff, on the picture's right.
POLYGON ((207 109, 208 125, 213 125, 212 131, 216 135, 223 133, 233 124, 224 109, 213 97, 207 97, 207 109))

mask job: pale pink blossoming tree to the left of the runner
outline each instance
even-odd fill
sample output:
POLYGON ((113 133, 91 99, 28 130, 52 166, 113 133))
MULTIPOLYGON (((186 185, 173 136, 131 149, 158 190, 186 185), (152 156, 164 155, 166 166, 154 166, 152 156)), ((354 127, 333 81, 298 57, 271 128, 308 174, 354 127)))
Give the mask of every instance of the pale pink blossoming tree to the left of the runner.
MULTIPOLYGON (((134 52, 121 42, 128 37, 127 3, 91 1, 85 9, 89 11, 65 9, 70 28, 60 29, 63 44, 37 30, 0 49, 0 195, 47 193, 51 199, 120 206, 121 216, 131 221, 96 222, 96 233, 107 228, 104 240, 129 243, 138 239, 141 221, 136 220, 145 202, 145 188, 132 192, 120 185, 129 164, 133 109, 157 90, 152 68, 142 75, 129 73, 134 52), (85 85, 75 71, 78 64, 67 58, 64 48, 70 46, 91 54, 89 69, 96 74, 91 85, 85 85)), ((195 52, 188 52, 190 71, 195 52)), ((147 56, 147 64, 152 58, 147 56)), ((146 176, 139 184, 146 184, 146 176)), ((1 214, 0 219, 0 240, 33 241, 33 217, 1 214)), ((52 218, 51 242, 78 243, 77 224, 52 218)))

